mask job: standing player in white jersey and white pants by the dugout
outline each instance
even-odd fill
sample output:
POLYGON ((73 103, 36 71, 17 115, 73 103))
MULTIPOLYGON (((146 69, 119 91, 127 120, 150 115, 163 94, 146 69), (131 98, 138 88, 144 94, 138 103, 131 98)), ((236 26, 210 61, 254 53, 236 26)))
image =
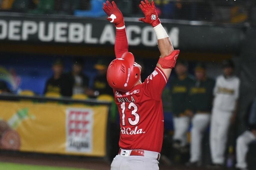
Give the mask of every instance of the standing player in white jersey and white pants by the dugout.
POLYGON ((210 127, 210 149, 215 167, 224 164, 229 125, 234 121, 239 97, 240 80, 234 75, 232 60, 223 61, 224 74, 216 79, 210 127))

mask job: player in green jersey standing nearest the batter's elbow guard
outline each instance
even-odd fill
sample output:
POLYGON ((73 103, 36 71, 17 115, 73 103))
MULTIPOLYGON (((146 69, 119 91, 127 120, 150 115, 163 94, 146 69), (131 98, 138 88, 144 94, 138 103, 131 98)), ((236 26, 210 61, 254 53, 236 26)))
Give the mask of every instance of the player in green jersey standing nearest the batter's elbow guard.
POLYGON ((188 90, 193 79, 187 75, 188 63, 184 60, 177 61, 175 72, 177 77, 171 81, 172 112, 174 114, 173 147, 183 148, 187 145, 187 131, 190 119, 185 111, 188 106, 188 90))

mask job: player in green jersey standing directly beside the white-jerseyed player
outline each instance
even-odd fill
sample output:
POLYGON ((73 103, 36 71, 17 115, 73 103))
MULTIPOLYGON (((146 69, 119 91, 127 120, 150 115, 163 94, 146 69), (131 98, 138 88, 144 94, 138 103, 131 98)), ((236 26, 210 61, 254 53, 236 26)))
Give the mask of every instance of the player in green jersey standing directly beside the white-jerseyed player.
POLYGON ((192 117, 189 166, 201 164, 201 142, 210 123, 214 87, 214 80, 206 76, 203 63, 198 63, 195 67, 195 77, 196 80, 189 89, 190 112, 187 112, 192 117))

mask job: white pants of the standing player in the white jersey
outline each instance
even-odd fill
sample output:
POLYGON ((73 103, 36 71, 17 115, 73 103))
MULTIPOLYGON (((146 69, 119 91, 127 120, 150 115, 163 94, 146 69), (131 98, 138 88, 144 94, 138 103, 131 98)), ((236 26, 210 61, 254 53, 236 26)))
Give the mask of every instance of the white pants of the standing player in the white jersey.
POLYGON ((213 109, 210 126, 210 149, 212 162, 223 164, 232 112, 213 109))

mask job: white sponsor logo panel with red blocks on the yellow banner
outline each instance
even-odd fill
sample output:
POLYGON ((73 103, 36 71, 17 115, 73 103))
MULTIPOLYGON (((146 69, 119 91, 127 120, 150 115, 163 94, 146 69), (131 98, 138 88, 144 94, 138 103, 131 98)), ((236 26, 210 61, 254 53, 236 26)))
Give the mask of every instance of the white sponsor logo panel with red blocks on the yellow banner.
POLYGON ((66 151, 92 152, 93 111, 83 108, 66 110, 66 151))

